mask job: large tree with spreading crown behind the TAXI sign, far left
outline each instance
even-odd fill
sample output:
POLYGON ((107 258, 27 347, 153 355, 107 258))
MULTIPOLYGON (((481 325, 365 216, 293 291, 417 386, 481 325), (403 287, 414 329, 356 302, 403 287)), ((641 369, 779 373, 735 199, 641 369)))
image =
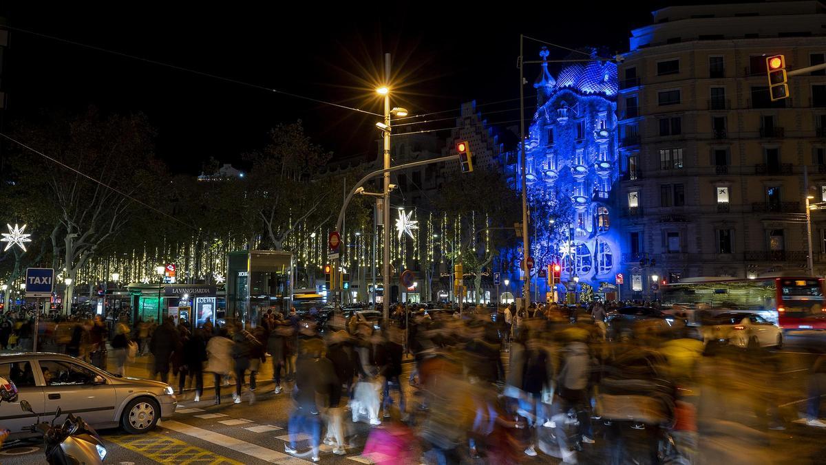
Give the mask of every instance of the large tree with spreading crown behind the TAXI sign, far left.
POLYGON ((26 188, 40 192, 53 214, 52 266, 72 279, 64 306, 69 312, 78 270, 116 239, 132 214, 143 210, 130 197, 150 197, 140 195, 144 189, 157 192, 154 133, 144 116, 101 116, 90 108, 82 116, 50 115, 21 125, 16 134, 59 162, 17 148, 17 172, 26 188))

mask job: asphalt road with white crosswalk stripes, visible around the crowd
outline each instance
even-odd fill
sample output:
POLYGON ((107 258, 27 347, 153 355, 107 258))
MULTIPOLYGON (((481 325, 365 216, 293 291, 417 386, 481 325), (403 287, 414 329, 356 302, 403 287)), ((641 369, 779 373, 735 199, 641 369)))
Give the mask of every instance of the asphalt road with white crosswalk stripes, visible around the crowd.
MULTIPOLYGON (((826 463, 826 442, 823 441, 826 430, 795 422, 794 417, 794 412, 805 405, 803 388, 809 376, 809 368, 814 363, 815 355, 824 352, 826 334, 801 334, 790 335, 786 339, 786 346, 778 353, 782 358, 787 395, 778 396, 777 403, 787 412, 786 429, 772 433, 771 447, 794 451, 796 463, 826 463)), ((507 353, 503 353, 503 358, 506 357, 507 353)), ((139 363, 131 370, 145 370, 149 362, 149 358, 139 359, 139 363)), ((404 365, 401 379, 406 380, 411 368, 411 363, 404 365)), ((205 396, 200 402, 194 402, 193 392, 186 391, 183 396, 179 396, 176 415, 161 422, 149 434, 130 435, 121 429, 100 431, 108 451, 106 463, 311 463, 309 455, 292 457, 284 453, 284 446, 288 442, 287 419, 292 410, 292 401, 287 390, 278 395, 273 393, 269 377, 268 372, 263 373, 263 381, 259 382, 256 400, 252 404, 247 395, 244 395, 243 403, 233 404, 230 397, 232 386, 223 388, 224 396, 220 406, 213 405, 214 394, 211 388, 205 390, 205 396)), ((405 387, 410 398, 410 387, 405 387)), ((321 463, 371 463, 369 458, 361 456, 371 431, 370 426, 351 423, 346 415, 344 422, 350 434, 346 455, 335 455, 329 446, 322 445, 321 463)), ((596 425, 596 428, 599 430, 600 425, 596 425)), ((599 435, 597 440, 600 440, 599 435)), ((306 445, 306 439, 300 444, 306 445)), ((580 462, 600 463, 593 454, 596 452, 592 449, 593 446, 586 444, 585 447, 580 462)), ((467 457, 465 459, 468 463, 483 463, 467 457)), ((28 465, 44 461, 42 444, 37 441, 7 444, 0 451, 0 463, 28 465)), ((538 457, 529 458, 527 463, 558 463, 558 459, 539 453, 538 457)))

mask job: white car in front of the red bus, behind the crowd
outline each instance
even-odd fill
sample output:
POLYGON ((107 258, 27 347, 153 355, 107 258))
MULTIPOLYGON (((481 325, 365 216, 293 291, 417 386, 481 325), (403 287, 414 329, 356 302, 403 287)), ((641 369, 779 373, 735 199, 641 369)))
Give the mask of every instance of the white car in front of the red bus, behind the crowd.
POLYGON ((703 326, 703 342, 721 341, 738 347, 783 346, 783 332, 757 313, 728 312, 713 316, 703 326))

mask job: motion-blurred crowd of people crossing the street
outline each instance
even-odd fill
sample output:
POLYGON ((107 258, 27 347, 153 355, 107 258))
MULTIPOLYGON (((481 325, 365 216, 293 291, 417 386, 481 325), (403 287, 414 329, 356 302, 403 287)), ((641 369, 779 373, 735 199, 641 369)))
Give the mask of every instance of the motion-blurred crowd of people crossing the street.
MULTIPOLYGON (((344 454, 358 422, 372 427, 363 453, 377 462, 521 463, 539 453, 563 463, 616 464, 781 457, 769 447, 771 434, 795 416, 778 407, 795 391, 781 388, 788 380, 776 353, 704 344, 688 327, 610 340, 606 316, 623 305, 461 313, 399 305, 386 325, 341 312, 322 325, 295 309, 267 311, 246 328, 207 320, 191 329, 168 318, 160 325, 121 320, 107 330, 97 317, 57 321, 49 336, 87 360, 108 339, 113 371, 121 374, 136 355, 150 353, 152 376, 177 381, 178 392, 194 387, 195 401, 211 376, 215 404, 230 382, 233 402, 254 403, 263 363, 271 363, 268 391, 294 404, 286 452, 314 461, 322 443, 344 454), (403 377, 405 362, 411 372, 403 377)), ((826 358, 812 372, 814 394, 802 413, 820 426, 826 358)))

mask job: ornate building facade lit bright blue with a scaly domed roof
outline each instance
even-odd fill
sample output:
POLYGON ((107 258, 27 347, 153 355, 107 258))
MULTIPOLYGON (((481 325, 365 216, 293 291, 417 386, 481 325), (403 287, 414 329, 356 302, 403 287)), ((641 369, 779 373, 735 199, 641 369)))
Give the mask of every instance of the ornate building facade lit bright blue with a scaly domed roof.
MULTIPOLYGON (((539 55, 546 60, 548 50, 539 55)), ((537 229, 531 238, 534 259, 544 266, 563 263, 563 284, 578 281, 596 291, 615 282, 621 257, 610 202, 619 178, 618 81, 616 64, 596 60, 596 51, 591 56, 594 61, 566 64, 556 78, 542 64, 534 83, 538 110, 525 149, 529 198, 554 202, 550 218, 560 220, 537 229)), ((548 291, 543 282, 540 292, 548 291)), ((564 288, 558 291, 561 297, 564 288)))

